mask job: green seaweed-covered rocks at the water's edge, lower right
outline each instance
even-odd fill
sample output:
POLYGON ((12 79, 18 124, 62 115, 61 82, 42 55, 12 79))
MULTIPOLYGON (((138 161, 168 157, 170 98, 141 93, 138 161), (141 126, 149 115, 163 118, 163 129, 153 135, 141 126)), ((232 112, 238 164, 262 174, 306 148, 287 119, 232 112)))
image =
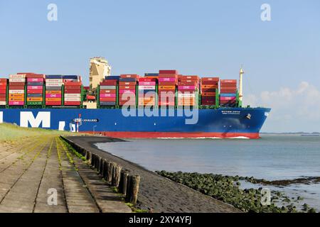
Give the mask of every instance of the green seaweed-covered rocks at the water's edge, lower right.
MULTIPOLYGON (((240 189, 239 180, 257 182, 253 177, 223 176, 213 174, 200 174, 197 172, 166 172, 157 171, 162 177, 169 178, 174 182, 184 184, 203 194, 215 199, 231 204, 245 212, 255 213, 296 213, 297 208, 294 204, 289 204, 289 197, 282 192, 272 191, 270 205, 262 205, 262 188, 259 189, 240 189), (275 204, 278 200, 286 201, 287 206, 279 207, 275 204)), ((301 200, 302 198, 298 198, 301 200)), ((305 212, 315 210, 308 205, 304 206, 305 212)))

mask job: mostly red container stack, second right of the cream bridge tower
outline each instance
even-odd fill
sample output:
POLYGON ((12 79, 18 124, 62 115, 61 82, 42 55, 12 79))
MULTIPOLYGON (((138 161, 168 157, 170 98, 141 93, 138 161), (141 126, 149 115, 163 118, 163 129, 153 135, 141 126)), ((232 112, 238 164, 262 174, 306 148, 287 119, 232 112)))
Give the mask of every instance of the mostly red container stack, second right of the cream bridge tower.
POLYGON ((139 75, 122 74, 119 78, 119 106, 136 106, 136 85, 139 75))

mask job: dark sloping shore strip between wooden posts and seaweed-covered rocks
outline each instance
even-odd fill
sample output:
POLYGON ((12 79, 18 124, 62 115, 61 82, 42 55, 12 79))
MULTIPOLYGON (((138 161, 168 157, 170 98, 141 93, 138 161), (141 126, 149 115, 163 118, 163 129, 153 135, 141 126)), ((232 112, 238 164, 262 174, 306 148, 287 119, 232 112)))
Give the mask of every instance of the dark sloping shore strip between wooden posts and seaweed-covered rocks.
POLYGON ((117 162, 124 169, 132 174, 140 175, 140 189, 138 196, 138 209, 150 212, 169 212, 169 213, 240 213, 230 204, 226 204, 218 199, 202 194, 183 184, 174 182, 165 177, 157 175, 155 172, 146 170, 133 162, 114 156, 103 150, 98 149, 95 143, 112 143, 123 141, 115 138, 91 137, 91 136, 72 136, 68 140, 77 143, 82 148, 92 153, 100 155, 107 160, 117 162))

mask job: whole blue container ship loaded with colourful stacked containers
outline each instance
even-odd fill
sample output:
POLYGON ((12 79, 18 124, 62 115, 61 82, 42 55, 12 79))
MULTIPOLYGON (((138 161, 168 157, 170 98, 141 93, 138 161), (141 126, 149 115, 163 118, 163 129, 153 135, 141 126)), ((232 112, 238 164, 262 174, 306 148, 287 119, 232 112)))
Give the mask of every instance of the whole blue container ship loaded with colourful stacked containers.
POLYGON ((90 86, 78 75, 20 72, 0 78, 0 123, 116 138, 260 138, 271 109, 242 107, 240 79, 177 70, 110 75, 90 59, 90 86))

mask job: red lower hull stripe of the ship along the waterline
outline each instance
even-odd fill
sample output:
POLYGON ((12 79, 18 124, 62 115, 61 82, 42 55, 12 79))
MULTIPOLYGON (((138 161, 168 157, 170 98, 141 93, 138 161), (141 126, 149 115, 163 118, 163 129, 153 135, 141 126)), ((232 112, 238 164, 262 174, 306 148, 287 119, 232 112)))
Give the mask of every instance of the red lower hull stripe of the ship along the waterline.
MULTIPOLYGON (((81 132, 81 133, 93 133, 81 132)), ((95 132, 114 138, 260 138, 259 133, 160 133, 160 132, 95 132)))

